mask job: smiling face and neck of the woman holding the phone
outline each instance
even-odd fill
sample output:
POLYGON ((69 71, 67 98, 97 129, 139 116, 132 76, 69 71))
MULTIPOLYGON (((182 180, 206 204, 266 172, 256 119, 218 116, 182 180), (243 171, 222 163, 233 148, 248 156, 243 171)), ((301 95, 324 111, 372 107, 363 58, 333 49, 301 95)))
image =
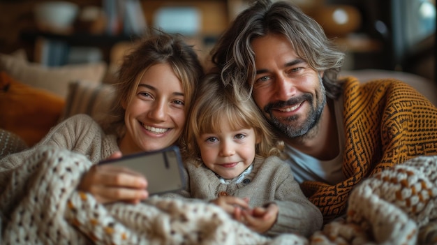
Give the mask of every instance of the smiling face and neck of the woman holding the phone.
POLYGON ((177 141, 185 125, 185 96, 170 64, 151 66, 128 103, 123 103, 126 134, 122 152, 153 151, 177 141))

